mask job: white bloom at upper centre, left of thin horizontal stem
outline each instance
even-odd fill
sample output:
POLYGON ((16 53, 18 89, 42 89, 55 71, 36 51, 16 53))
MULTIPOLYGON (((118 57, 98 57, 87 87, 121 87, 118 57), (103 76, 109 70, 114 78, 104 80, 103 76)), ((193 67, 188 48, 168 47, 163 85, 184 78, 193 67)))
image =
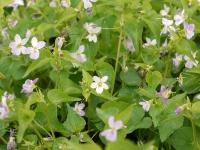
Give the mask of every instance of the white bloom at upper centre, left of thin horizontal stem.
POLYGON ((101 32, 101 27, 98 27, 94 23, 85 23, 84 28, 87 30, 89 35, 87 35, 86 39, 89 40, 89 42, 97 42, 97 34, 101 32))

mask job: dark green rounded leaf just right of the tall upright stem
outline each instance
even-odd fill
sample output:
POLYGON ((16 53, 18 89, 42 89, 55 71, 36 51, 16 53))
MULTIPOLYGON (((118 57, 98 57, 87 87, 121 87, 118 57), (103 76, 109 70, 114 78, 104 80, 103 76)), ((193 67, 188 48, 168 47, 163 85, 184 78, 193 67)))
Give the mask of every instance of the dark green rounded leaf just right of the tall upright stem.
POLYGON ((138 73, 130 68, 127 72, 122 71, 120 73, 121 80, 129 86, 139 86, 142 82, 142 79, 138 75, 138 73))

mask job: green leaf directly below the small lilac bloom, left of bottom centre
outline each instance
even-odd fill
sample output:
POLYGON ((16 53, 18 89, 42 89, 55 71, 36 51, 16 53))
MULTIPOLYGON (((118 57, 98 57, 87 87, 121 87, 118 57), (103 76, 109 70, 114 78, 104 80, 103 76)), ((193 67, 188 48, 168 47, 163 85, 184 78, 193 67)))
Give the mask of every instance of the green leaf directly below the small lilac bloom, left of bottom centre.
POLYGON ((79 116, 69 105, 67 105, 67 110, 67 120, 63 123, 63 125, 71 132, 80 132, 86 125, 85 120, 79 116))

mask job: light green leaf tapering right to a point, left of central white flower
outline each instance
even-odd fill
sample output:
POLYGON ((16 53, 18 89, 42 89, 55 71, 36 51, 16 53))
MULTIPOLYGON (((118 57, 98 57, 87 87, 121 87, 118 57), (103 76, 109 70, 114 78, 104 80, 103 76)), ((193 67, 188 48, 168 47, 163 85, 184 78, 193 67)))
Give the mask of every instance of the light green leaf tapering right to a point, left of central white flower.
POLYGON ((48 99, 53 104, 59 104, 63 102, 74 102, 74 101, 80 101, 80 98, 68 96, 68 92, 65 92, 61 89, 52 89, 47 93, 48 99))

